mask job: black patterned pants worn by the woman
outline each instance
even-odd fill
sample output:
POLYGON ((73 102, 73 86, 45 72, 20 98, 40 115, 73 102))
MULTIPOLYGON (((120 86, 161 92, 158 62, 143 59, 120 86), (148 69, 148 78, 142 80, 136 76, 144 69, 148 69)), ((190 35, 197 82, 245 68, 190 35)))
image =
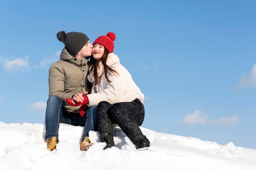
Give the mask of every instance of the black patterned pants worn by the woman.
POLYGON ((139 99, 132 102, 119 102, 114 105, 102 101, 98 105, 97 115, 99 134, 113 135, 113 124, 118 124, 132 140, 136 135, 143 135, 139 126, 141 126, 144 116, 144 106, 139 99))

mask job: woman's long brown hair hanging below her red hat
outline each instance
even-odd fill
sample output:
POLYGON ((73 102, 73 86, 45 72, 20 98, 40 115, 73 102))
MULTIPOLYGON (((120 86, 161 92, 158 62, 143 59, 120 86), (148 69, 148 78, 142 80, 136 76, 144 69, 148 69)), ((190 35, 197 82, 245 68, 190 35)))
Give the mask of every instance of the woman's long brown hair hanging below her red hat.
MULTIPOLYGON (((99 59, 98 61, 96 59, 94 59, 92 56, 90 57, 90 65, 89 65, 89 70, 90 72, 92 72, 93 70, 93 75, 94 75, 94 80, 95 80, 95 85, 97 85, 100 81, 99 75, 97 74, 97 71, 99 69, 99 62, 102 61, 102 64, 104 66, 104 74, 106 76, 106 79, 108 81, 108 83, 110 83, 111 81, 108 79, 108 74, 118 74, 118 72, 116 72, 116 70, 114 70, 112 67, 107 65, 107 59, 108 59, 108 50, 104 47, 104 53, 103 56, 101 57, 101 59, 99 59), (92 67, 92 69, 90 69, 92 67), (108 72, 110 71, 110 72, 108 72)), ((89 74, 90 74, 89 72, 89 74)), ((119 75, 119 74, 118 74, 119 75)), ((102 76, 102 75, 101 75, 102 76)))

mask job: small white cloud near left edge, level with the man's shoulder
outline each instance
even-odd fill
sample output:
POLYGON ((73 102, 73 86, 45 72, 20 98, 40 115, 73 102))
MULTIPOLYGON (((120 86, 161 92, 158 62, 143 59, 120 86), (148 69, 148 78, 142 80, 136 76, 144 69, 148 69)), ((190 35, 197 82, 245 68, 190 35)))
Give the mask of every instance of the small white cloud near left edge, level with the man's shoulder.
POLYGON ((17 71, 29 71, 31 66, 29 64, 29 57, 18 58, 14 60, 4 59, 4 69, 7 72, 17 72, 17 71))

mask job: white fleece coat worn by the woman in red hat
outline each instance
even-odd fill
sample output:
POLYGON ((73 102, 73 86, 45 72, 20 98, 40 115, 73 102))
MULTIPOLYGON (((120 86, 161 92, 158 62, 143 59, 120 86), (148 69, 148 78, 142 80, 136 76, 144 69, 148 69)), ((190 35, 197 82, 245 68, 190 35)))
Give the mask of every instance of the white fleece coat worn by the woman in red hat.
POLYGON ((138 98, 141 102, 144 100, 144 94, 141 93, 139 87, 132 80, 132 76, 119 62, 119 58, 114 53, 108 54, 107 64, 118 72, 119 75, 114 73, 108 74, 108 83, 104 74, 102 63, 99 64, 98 69, 100 82, 95 85, 93 71, 88 75, 88 80, 92 83, 91 94, 88 94, 88 106, 98 105, 101 101, 107 101, 111 105, 117 102, 132 102, 138 98))

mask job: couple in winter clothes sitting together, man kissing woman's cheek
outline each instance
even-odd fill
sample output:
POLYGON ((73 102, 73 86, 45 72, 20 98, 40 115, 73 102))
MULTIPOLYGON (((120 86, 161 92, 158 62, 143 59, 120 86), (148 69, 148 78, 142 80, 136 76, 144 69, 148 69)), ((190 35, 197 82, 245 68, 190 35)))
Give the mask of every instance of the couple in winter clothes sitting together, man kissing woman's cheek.
POLYGON ((139 128, 145 116, 144 94, 113 53, 115 34, 102 35, 93 44, 78 32, 60 31, 57 38, 65 47, 60 60, 49 68, 47 149, 56 149, 60 123, 84 126, 80 150, 93 144, 89 131, 99 131, 100 142, 106 142, 103 149, 115 146, 113 124, 118 124, 136 148, 150 146, 139 128))

